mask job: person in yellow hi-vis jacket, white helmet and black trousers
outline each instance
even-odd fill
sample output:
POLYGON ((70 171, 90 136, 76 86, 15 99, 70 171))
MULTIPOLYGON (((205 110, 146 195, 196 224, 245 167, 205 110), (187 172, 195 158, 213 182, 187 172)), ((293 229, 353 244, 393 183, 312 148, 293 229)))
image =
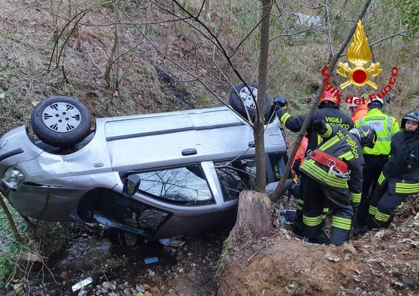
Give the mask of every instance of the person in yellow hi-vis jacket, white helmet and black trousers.
POLYGON ((367 115, 355 122, 356 128, 360 126, 372 126, 377 134, 377 144, 374 148, 366 147, 363 149, 365 166, 363 171, 362 196, 359 209, 356 213, 355 223, 357 227, 356 231, 359 232, 363 232, 361 227, 367 218, 368 207, 370 206, 371 196, 374 193, 378 176, 389 157, 392 137, 400 130, 396 118, 383 113, 382 109, 383 100, 376 98, 368 104, 367 115))

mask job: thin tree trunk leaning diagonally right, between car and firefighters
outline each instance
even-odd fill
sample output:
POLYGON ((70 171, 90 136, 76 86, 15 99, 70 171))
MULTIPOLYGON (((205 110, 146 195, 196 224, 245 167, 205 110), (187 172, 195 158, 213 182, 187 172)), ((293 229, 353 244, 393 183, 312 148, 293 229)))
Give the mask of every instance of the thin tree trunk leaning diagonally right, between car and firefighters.
MULTIPOLYGON (((350 41, 350 38, 352 37, 352 35, 355 32, 357 21, 359 19, 363 18, 365 12, 367 11, 368 6, 370 5, 370 2, 371 2, 371 0, 366 0, 363 3, 361 12, 359 12, 358 18, 354 22, 354 25, 352 26, 352 29, 350 30, 350 32, 348 33, 348 36, 346 36, 345 40, 343 41, 343 43, 341 44, 341 46, 339 47, 339 49, 337 50, 337 52, 333 56, 332 60, 330 61, 329 69, 328 69, 328 73, 330 74, 330 76, 332 75, 333 69, 335 69, 335 65, 337 63, 337 60, 340 58, 343 50, 348 45, 348 43, 350 41)), ((295 155, 297 154, 299 144, 301 143, 301 140, 304 137, 304 134, 306 133, 308 123, 310 122, 311 117, 313 116, 313 113, 315 112, 315 109, 317 108, 317 105, 320 102, 320 96, 321 96, 321 93, 323 92, 323 87, 324 87, 324 81, 321 83, 321 87, 319 88, 319 91, 317 91, 317 95, 313 99, 313 102, 311 103, 310 111, 308 111, 306 119, 303 122, 302 128, 299 130, 299 133, 297 135, 297 139, 295 139, 293 149, 291 150, 291 154, 289 155, 288 162, 286 163, 286 166, 285 166, 284 174, 282 175, 280 183, 276 187, 275 192, 273 192, 273 194, 272 194, 272 201, 273 202, 275 202, 276 200, 278 200, 278 198, 280 198, 280 192, 282 192, 282 190, 284 190, 285 181, 288 178, 288 174, 291 170, 291 164, 293 163, 295 155)))

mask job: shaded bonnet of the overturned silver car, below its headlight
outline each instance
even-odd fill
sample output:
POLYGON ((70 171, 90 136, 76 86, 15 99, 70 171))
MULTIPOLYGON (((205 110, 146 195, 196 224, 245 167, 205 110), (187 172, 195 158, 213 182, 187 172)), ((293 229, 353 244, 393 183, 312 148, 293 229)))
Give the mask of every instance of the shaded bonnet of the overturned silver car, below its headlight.
POLYGON ((91 189, 23 184, 13 191, 4 183, 0 185, 1 193, 20 214, 58 222, 81 220, 77 212, 78 202, 91 189))

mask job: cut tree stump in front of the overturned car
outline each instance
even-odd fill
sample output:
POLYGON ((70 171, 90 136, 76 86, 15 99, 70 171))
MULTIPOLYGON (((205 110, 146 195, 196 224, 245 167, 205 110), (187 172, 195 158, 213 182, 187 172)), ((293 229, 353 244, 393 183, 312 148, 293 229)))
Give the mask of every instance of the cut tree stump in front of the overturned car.
POLYGON ((228 239, 234 242, 255 240, 270 236, 271 231, 271 200, 267 194, 240 192, 236 225, 228 239))

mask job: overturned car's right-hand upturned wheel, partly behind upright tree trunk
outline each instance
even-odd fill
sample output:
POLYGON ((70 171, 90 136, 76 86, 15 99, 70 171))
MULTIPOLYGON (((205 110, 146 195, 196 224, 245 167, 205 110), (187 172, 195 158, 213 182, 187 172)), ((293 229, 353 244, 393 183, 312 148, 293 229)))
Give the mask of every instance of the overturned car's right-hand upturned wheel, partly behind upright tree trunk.
MULTIPOLYGON (((248 82, 247 84, 249 84, 249 87, 257 100, 258 85, 251 82, 248 82)), ((271 98, 269 98, 267 91, 264 98, 264 115, 268 115, 271 110, 271 98)), ((247 118, 246 109, 247 112, 249 112, 250 117, 256 117, 256 104, 253 102, 253 97, 249 92, 249 89, 243 82, 234 84, 234 89, 231 89, 229 93, 229 104, 236 112, 245 118, 247 118)))

